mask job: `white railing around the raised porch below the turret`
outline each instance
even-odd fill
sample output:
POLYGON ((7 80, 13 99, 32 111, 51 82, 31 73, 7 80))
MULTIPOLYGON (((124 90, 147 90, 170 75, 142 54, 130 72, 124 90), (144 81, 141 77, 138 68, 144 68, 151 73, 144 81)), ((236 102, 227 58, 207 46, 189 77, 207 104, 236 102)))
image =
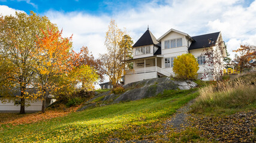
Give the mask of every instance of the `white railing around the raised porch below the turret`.
POLYGON ((125 70, 126 74, 137 74, 137 73, 150 73, 150 72, 155 72, 157 71, 158 73, 164 74, 165 76, 171 76, 171 73, 167 70, 162 69, 161 67, 141 67, 138 69, 134 70, 125 70))

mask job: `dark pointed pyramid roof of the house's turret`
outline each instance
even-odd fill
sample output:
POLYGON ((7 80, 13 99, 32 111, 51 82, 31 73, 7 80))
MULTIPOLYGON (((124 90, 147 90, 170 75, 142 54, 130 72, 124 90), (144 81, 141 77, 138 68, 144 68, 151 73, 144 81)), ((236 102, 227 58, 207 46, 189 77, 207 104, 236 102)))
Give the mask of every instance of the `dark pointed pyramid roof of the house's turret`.
POLYGON ((155 36, 153 36, 153 34, 149 31, 149 29, 147 29, 146 32, 140 37, 140 39, 138 39, 136 43, 134 43, 132 47, 152 45, 152 44, 156 45, 157 43, 159 42, 156 41, 155 36))

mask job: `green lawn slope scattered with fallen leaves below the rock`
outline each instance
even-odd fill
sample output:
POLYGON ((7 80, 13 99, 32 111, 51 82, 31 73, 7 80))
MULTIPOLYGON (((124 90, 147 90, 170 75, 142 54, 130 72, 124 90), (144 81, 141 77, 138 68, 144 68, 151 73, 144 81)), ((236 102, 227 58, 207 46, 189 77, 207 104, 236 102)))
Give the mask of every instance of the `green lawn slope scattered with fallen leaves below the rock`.
POLYGON ((197 97, 196 90, 165 91, 155 98, 91 108, 45 122, 0 125, 0 142, 103 142, 110 138, 158 138, 148 135, 161 130, 161 123, 167 117, 197 97))

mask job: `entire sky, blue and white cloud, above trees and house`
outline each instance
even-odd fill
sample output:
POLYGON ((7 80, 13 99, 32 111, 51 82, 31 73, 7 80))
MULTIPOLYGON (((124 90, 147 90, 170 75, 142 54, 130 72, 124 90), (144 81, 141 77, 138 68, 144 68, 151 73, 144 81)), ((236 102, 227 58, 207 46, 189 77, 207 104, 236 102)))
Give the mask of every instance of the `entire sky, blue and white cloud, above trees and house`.
POLYGON ((170 29, 190 36, 221 31, 228 52, 240 44, 256 45, 256 1, 237 0, 0 0, 0 14, 34 11, 46 15, 63 29, 64 36, 73 34, 76 51, 82 46, 98 57, 106 52, 104 38, 111 19, 127 30, 136 42, 149 30, 159 38, 170 29))

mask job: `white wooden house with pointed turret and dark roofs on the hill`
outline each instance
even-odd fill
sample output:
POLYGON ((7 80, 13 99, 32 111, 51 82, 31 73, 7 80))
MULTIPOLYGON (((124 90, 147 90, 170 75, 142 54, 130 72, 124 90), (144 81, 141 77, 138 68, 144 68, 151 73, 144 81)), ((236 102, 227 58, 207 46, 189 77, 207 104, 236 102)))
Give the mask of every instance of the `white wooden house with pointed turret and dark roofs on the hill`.
MULTIPOLYGON (((201 56, 203 49, 212 45, 217 46, 218 42, 222 42, 221 32, 191 37, 187 33, 170 29, 156 39, 147 29, 132 46, 133 59, 127 62, 133 62, 134 69, 126 71, 124 84, 160 76, 174 76, 173 60, 184 53, 191 53, 197 58, 200 78, 204 72, 203 64, 206 59, 206 56, 201 56)), ((210 75, 204 80, 213 80, 214 77, 210 75)))

